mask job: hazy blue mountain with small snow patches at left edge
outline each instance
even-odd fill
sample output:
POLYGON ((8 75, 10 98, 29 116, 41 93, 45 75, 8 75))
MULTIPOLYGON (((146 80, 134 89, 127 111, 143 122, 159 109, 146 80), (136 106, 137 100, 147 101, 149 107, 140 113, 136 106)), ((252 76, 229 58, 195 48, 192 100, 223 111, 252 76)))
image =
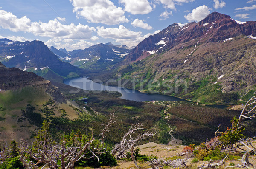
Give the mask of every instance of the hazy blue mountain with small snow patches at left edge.
POLYGON ((0 39, 0 62, 7 67, 32 71, 46 79, 79 76, 83 70, 61 61, 43 42, 18 42, 0 39))

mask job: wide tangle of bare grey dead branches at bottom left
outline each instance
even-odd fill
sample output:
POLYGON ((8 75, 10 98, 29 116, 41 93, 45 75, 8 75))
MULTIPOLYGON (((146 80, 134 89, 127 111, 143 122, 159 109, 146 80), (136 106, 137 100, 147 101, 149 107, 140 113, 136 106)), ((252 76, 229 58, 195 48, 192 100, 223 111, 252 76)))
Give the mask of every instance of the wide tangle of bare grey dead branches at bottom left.
MULTIPOLYGON (((89 150, 90 152, 90 144, 92 143, 93 138, 86 144, 82 144, 81 142, 76 140, 76 143, 73 146, 66 146, 65 141, 63 141, 62 145, 52 145, 52 144, 39 144, 38 149, 33 150, 32 148, 29 148, 26 146, 26 144, 21 143, 22 146, 20 146, 20 149, 22 149, 22 154, 25 152, 29 154, 29 156, 36 160, 37 163, 33 163, 33 161, 27 161, 26 158, 21 155, 20 161, 23 162, 24 166, 27 169, 33 169, 38 168, 38 164, 43 163, 44 166, 41 169, 44 169, 45 167, 49 167, 50 169, 58 169, 61 167, 61 169, 73 169, 75 162, 79 161, 82 158, 85 158, 84 152, 86 150, 89 150), (57 164, 57 161, 61 161, 61 165, 59 166, 57 164)), ((93 157, 97 157, 93 152, 93 157)), ((99 158, 98 158, 99 160, 99 158)))

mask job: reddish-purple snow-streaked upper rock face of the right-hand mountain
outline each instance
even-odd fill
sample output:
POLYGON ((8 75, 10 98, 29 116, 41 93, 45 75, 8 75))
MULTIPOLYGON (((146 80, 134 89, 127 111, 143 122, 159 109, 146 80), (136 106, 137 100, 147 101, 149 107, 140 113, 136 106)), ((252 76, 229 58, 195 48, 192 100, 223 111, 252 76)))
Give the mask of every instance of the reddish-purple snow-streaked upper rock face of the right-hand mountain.
POLYGON ((175 23, 144 39, 126 56, 122 64, 129 64, 141 60, 145 56, 167 51, 180 43, 189 42, 193 39, 197 40, 196 43, 202 44, 218 42, 239 35, 256 37, 256 22, 239 22, 228 15, 213 12, 199 23, 175 23))

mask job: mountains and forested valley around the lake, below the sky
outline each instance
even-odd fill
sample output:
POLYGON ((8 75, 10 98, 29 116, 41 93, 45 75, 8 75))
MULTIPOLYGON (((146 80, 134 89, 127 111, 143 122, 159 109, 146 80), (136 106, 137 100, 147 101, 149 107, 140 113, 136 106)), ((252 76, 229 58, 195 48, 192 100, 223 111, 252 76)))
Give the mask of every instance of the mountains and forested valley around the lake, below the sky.
MULTIPOLYGON (((240 22, 213 12, 198 23, 173 23, 133 48, 99 43, 67 51, 48 48, 39 40, 5 38, 0 39, 0 62, 4 140, 33 140, 46 120, 57 141, 78 131, 93 133, 98 140, 105 137, 111 147, 142 123, 145 128, 136 134, 156 134, 140 144, 200 144, 216 130, 226 131, 230 120, 239 118, 241 104, 256 94, 256 21, 240 22), (128 101, 118 92, 80 90, 63 83, 82 76, 186 100, 128 101), (99 136, 111 113, 116 116, 111 132, 99 136)), ((244 124, 244 135, 255 136, 255 120, 244 124)), ((169 151, 176 154, 176 148, 169 151)))

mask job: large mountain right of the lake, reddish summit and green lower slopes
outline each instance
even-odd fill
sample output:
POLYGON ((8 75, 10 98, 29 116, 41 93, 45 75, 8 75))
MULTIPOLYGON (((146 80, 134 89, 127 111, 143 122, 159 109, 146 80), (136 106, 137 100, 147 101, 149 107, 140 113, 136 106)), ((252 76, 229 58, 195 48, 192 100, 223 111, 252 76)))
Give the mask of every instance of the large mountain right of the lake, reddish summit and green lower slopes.
POLYGON ((213 12, 198 23, 174 23, 149 36, 112 71, 116 79, 122 73, 123 80, 137 80, 136 89, 146 92, 203 102, 218 101, 221 93, 244 96, 255 90, 255 39, 255 21, 213 12))

